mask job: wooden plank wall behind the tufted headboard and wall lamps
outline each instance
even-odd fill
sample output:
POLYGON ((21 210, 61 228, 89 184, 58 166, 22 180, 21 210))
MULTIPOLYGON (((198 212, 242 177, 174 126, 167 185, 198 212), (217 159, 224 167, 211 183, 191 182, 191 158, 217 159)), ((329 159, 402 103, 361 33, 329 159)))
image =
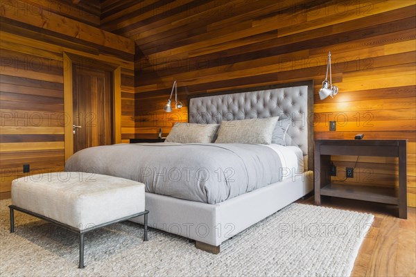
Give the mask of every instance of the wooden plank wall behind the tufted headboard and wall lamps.
MULTIPOLYGON (((137 136, 155 137, 159 127, 167 134, 174 121, 187 120, 186 107, 163 111, 175 79, 182 101, 314 80, 315 138, 362 132, 365 139, 408 139, 408 203, 416 205, 415 1, 104 0, 101 8, 101 27, 137 44, 137 136), (321 101, 328 51, 340 93, 321 101), (336 132, 329 120, 338 121, 336 132)), ((341 168, 356 157, 334 159, 343 180, 341 168)), ((353 182, 396 184, 394 163, 361 157, 353 182)))

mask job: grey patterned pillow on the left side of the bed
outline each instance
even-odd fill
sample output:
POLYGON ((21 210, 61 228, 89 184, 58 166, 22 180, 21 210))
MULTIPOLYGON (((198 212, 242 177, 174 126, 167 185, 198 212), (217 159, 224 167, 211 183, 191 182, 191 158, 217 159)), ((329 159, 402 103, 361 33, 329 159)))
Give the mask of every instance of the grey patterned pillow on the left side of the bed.
POLYGON ((166 143, 211 143, 219 124, 175 123, 166 143))

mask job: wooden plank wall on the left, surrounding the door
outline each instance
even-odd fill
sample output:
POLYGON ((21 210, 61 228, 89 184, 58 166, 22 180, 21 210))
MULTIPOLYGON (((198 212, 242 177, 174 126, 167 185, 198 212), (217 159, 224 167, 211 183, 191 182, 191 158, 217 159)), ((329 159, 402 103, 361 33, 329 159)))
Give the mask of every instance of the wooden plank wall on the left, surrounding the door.
POLYGON ((134 137, 134 42, 93 27, 99 15, 79 14, 71 1, 55 4, 1 1, 0 192, 24 176, 24 163, 31 174, 64 167, 64 52, 85 56, 87 66, 89 59, 121 66, 122 141, 134 137))

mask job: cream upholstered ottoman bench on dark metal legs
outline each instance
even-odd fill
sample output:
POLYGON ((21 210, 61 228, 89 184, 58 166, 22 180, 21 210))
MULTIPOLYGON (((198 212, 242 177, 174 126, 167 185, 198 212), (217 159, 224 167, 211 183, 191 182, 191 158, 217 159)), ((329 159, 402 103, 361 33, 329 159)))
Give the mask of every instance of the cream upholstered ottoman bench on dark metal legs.
POLYGON ((12 181, 10 232, 15 231, 14 210, 39 217, 79 234, 79 268, 84 267, 84 235, 132 217, 147 216, 144 184, 85 172, 53 172, 12 181))

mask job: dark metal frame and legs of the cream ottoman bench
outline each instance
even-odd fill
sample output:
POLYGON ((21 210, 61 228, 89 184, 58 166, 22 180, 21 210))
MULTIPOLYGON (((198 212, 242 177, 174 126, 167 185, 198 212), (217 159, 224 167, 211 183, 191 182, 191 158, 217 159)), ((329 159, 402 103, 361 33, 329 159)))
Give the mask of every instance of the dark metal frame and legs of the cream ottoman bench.
POLYGON ((144 239, 143 240, 145 242, 148 240, 147 233, 148 233, 148 213, 149 213, 149 211, 147 211, 147 210, 145 210, 144 212, 141 212, 141 213, 136 213, 134 215, 129 215, 127 217, 120 218, 118 220, 112 220, 112 221, 107 222, 107 223, 99 224, 99 225, 96 225, 96 226, 89 227, 87 229, 80 230, 80 229, 75 228, 73 226, 69 226, 67 224, 63 224, 62 222, 58 222, 56 220, 53 220, 53 219, 51 219, 49 217, 46 217, 44 215, 40 215, 39 213, 33 213, 31 211, 25 210, 24 208, 19 208, 18 206, 15 206, 15 205, 10 205, 9 208, 10 208, 10 233, 15 233, 15 210, 19 211, 21 213, 27 213, 28 215, 33 215, 34 217, 40 218, 41 220, 51 222, 52 224, 55 224, 55 225, 60 226, 64 229, 67 229, 67 230, 69 230, 73 233, 78 233, 78 235, 80 235, 80 262, 79 262, 78 268, 80 268, 80 269, 84 268, 84 235, 88 232, 94 231, 96 229, 99 229, 101 227, 104 227, 104 226, 107 226, 107 225, 110 225, 110 224, 114 224, 114 223, 117 223, 117 222, 122 222, 122 221, 125 221, 125 220, 130 220, 130 218, 133 218, 133 217, 138 217, 138 216, 144 215, 144 239))

